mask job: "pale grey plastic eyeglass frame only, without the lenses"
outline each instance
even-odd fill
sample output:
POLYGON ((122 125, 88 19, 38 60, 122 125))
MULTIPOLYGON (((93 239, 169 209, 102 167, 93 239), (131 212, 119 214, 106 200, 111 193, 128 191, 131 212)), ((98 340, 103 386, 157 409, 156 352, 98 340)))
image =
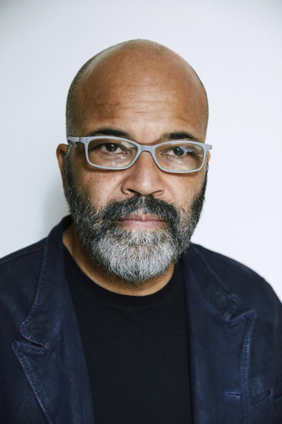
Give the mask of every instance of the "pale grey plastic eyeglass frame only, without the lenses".
POLYGON ((163 142, 163 143, 155 144, 153 146, 148 146, 148 145, 144 145, 144 144, 138 144, 138 143, 136 143, 136 142, 134 142, 132 140, 128 140, 126 138, 110 137, 110 136, 94 136, 94 137, 70 137, 70 136, 68 136, 67 137, 67 140, 68 140, 68 142, 71 142, 73 144, 77 144, 78 142, 83 143, 84 144, 84 147, 85 147, 85 156, 86 156, 87 162, 89 163, 89 165, 94 166, 96 168, 114 169, 114 170, 127 169, 127 168, 130 168, 134 164, 134 162, 137 161, 138 157, 140 156, 140 153, 142 153, 142 152, 150 152, 151 155, 152 155, 152 157, 153 157, 153 160, 154 160, 155 164, 157 165, 157 167, 159 167, 159 169, 161 169, 162 171, 165 171, 165 172, 172 172, 172 173, 175 173, 175 174, 176 173, 178 173, 178 174, 180 174, 180 173, 181 174, 184 174, 185 173, 186 174, 186 173, 189 173, 189 172, 200 171, 200 169, 202 169, 202 167, 203 167, 203 165, 205 163, 205 157, 206 157, 207 151, 212 149, 212 145, 210 145, 210 144, 205 144, 205 143, 200 143, 198 141, 190 141, 190 140, 166 141, 166 142, 163 142), (131 164, 129 164, 127 166, 124 166, 124 167, 110 167, 110 166, 94 165, 89 160, 89 157, 88 157, 88 147, 87 146, 88 146, 88 143, 90 141, 92 141, 92 140, 98 140, 98 139, 101 139, 101 140, 111 139, 111 140, 127 141, 127 142, 132 143, 134 146, 137 147, 137 153, 136 153, 136 156, 135 156, 134 160, 131 162, 131 164), (177 145, 180 142, 185 142, 185 141, 188 142, 188 143, 191 143, 191 144, 197 144, 197 145, 199 145, 199 146, 201 146, 203 148, 204 155, 203 155, 203 162, 202 162, 201 166, 199 168, 193 169, 191 171, 170 171, 168 169, 164 169, 163 167, 161 167, 161 165, 159 165, 159 163, 158 163, 158 161, 156 159, 155 149, 157 147, 161 146, 161 145, 164 145, 164 144, 175 144, 175 145, 177 145))

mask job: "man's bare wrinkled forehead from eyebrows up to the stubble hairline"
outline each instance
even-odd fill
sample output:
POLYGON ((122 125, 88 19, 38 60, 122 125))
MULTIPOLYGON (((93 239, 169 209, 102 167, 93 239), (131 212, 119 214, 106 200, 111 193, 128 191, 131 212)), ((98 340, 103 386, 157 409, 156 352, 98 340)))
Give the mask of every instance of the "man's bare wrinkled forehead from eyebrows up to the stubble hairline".
POLYGON ((114 52, 88 68, 75 92, 80 136, 94 126, 170 131, 188 125, 203 133, 205 108, 200 81, 176 54, 114 52))

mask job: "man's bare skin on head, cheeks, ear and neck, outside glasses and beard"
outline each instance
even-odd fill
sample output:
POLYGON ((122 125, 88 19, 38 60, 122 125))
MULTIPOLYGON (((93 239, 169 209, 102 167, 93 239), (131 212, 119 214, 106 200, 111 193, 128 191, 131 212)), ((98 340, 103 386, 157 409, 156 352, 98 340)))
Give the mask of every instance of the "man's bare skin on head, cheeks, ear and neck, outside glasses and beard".
MULTIPOLYGON (((205 92, 192 68, 171 50, 159 54, 142 43, 138 49, 113 48, 88 67, 75 95, 77 128, 76 134, 70 135, 86 137, 100 128, 113 128, 127 133, 120 137, 155 145, 168 141, 166 134, 186 131, 197 141, 205 142, 205 92)), ((95 135, 110 134, 101 131, 95 135)), ((64 144, 57 148, 63 187, 66 150, 64 144)), ((206 162, 209 158, 208 152, 206 162)), ((201 190, 206 170, 205 163, 194 173, 164 172, 156 166, 149 152, 142 152, 126 170, 102 170, 88 165, 84 149, 79 148, 71 152, 70 163, 75 186, 78 190, 84 187, 98 209, 111 200, 126 199, 138 193, 151 194, 187 209, 201 190)), ((140 218, 137 221, 126 221, 124 225, 137 230, 148 228, 148 223, 142 225, 140 218)), ((159 224, 156 223, 156 228, 159 224)), ((93 264, 73 226, 64 233, 63 243, 86 275, 116 293, 133 296, 155 293, 172 276, 174 264, 165 275, 132 287, 93 264)))

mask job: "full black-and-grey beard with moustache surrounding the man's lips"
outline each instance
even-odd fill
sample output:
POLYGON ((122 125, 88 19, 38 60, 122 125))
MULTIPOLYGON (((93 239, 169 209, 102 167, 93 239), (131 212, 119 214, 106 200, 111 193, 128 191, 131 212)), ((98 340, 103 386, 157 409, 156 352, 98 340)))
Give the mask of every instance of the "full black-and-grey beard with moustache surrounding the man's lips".
POLYGON ((134 195, 96 209, 86 190, 82 187, 78 190, 74 185, 69 152, 70 149, 65 165, 66 200, 80 241, 93 263, 135 287, 164 275, 188 248, 200 219, 208 164, 201 190, 186 208, 153 195, 134 195), (156 230, 123 229, 118 220, 137 212, 157 215, 166 225, 156 230))

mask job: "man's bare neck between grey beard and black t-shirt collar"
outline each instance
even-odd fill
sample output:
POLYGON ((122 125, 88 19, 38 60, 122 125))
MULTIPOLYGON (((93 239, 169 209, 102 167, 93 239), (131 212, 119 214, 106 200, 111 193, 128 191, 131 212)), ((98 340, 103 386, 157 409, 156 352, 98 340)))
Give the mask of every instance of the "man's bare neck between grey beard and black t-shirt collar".
POLYGON ((89 257, 88 252, 82 247, 77 230, 71 224, 63 233, 63 244, 66 246, 71 256, 79 268, 96 284, 114 293, 127 296, 147 296, 161 290, 171 279, 174 264, 170 265, 164 275, 148 279, 142 285, 134 286, 116 276, 113 276, 104 269, 99 268, 89 257))

